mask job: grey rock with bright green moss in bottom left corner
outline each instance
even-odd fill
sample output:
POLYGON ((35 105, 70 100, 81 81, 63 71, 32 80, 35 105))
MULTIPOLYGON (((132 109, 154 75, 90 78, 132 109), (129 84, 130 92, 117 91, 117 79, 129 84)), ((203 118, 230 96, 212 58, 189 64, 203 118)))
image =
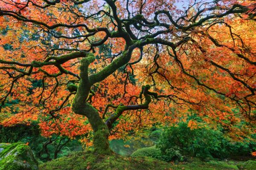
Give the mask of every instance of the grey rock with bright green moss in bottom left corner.
POLYGON ((26 144, 1 143, 0 170, 38 170, 38 162, 26 144))

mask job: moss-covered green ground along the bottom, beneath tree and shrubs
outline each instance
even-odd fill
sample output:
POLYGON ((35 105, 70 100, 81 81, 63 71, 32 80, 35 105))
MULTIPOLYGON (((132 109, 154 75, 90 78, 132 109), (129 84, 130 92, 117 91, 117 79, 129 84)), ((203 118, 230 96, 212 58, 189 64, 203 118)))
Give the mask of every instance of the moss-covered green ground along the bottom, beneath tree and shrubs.
POLYGON ((186 163, 168 163, 150 157, 95 156, 76 152, 41 164, 40 170, 238 170, 241 161, 208 161, 192 159, 186 163))

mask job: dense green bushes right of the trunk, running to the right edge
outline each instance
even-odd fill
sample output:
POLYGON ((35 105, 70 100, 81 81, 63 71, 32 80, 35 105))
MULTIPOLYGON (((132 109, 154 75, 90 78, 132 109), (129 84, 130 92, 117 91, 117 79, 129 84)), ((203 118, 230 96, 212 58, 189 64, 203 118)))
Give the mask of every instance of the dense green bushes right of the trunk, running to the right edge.
MULTIPOLYGON (((255 139, 255 136, 252 136, 255 139)), ((247 142, 231 143, 218 130, 206 127, 190 129, 186 122, 177 126, 166 127, 160 136, 157 148, 165 160, 177 159, 172 156, 173 151, 178 151, 183 156, 199 158, 228 158, 231 156, 249 156, 256 149, 256 143, 247 142)))

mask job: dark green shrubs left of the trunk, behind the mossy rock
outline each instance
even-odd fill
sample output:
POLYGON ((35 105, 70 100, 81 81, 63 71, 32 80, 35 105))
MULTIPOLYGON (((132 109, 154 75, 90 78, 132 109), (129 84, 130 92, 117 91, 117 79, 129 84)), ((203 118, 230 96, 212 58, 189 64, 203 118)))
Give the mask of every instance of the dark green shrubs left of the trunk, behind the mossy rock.
POLYGON ((78 139, 67 140, 67 137, 63 139, 63 136, 55 135, 51 138, 41 136, 41 130, 36 121, 30 124, 0 125, 0 143, 26 143, 33 150, 35 158, 40 161, 55 159, 75 150, 81 150, 78 139))

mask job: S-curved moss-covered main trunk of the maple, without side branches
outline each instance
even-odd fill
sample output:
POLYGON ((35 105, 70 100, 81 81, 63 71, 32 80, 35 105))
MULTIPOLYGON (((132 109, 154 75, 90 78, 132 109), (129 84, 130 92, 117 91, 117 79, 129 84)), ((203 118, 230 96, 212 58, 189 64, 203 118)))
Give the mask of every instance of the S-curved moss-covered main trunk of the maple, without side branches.
POLYGON ((88 66, 94 61, 93 54, 87 54, 86 58, 81 59, 80 66, 80 81, 77 86, 76 96, 72 103, 72 109, 76 114, 86 116, 94 131, 94 153, 111 154, 109 148, 108 127, 99 116, 99 112, 92 105, 87 103, 87 98, 90 93, 91 83, 88 77, 88 66))

